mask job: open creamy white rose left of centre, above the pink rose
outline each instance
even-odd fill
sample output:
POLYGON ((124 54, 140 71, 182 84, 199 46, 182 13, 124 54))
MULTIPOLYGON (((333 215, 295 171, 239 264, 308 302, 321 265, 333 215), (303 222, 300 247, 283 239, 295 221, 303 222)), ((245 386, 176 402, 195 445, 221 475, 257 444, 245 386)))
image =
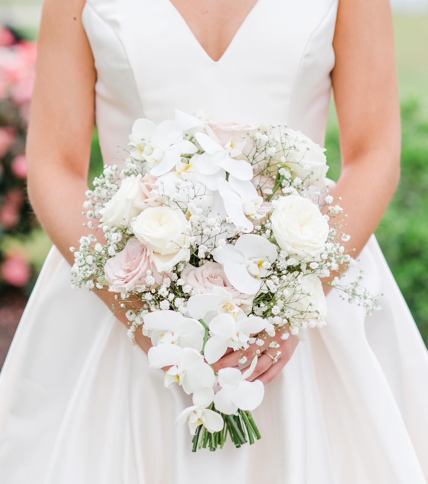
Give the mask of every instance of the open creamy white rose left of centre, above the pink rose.
POLYGON ((136 218, 132 230, 135 237, 153 250, 159 272, 171 271, 175 264, 190 259, 188 221, 181 210, 150 207, 136 218))

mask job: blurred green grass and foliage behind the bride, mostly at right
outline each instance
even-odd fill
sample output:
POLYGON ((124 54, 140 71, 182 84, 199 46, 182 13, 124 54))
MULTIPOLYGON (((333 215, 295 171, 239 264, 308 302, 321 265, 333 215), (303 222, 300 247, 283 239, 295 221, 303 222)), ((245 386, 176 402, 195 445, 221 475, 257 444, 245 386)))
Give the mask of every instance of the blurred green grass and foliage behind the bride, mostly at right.
MULTIPOLYGON (((394 18, 402 119, 401 180, 376 230, 386 260, 428 345, 428 16, 394 18)), ((337 119, 327 126, 329 177, 340 174, 337 119)), ((102 168, 96 129, 88 180, 102 168)), ((39 252, 42 261, 45 251, 39 252)))

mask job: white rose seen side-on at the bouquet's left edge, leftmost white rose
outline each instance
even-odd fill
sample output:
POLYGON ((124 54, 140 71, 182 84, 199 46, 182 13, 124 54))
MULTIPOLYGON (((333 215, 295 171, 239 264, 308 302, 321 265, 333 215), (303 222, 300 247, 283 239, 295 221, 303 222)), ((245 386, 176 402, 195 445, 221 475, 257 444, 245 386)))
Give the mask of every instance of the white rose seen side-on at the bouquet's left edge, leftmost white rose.
POLYGON ((131 175, 124 178, 119 190, 100 210, 102 215, 100 227, 127 226, 131 220, 143 210, 143 202, 147 196, 144 193, 144 182, 142 175, 131 175))

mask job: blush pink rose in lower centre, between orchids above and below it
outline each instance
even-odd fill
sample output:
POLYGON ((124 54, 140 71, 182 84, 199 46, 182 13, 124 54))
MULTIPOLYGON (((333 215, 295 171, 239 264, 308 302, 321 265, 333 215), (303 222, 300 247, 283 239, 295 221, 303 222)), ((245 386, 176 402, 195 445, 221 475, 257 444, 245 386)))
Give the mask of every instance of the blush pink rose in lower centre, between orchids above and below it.
POLYGON ((207 261, 200 267, 188 264, 180 277, 193 289, 199 289, 202 294, 211 292, 213 287, 221 287, 229 292, 242 311, 247 313, 251 311, 255 294, 243 294, 235 289, 227 279, 222 265, 218 262, 207 261))

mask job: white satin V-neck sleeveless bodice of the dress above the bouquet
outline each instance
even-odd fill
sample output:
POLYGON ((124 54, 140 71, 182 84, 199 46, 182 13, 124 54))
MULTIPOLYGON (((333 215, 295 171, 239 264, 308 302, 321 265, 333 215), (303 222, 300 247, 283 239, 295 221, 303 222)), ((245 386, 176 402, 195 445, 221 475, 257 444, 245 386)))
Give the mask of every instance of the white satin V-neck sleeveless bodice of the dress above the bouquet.
POLYGON ((323 144, 338 0, 258 0, 213 61, 169 0, 87 0, 105 162, 133 121, 174 109, 211 119, 287 123, 323 144))

